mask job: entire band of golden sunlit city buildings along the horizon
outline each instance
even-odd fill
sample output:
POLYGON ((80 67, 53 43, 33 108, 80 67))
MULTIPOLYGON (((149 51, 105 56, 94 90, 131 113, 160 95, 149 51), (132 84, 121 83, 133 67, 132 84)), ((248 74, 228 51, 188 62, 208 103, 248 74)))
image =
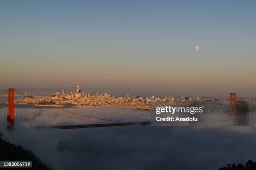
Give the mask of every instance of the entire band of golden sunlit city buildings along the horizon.
MULTIPOLYGON (((125 97, 116 97, 115 95, 109 95, 108 93, 98 94, 90 93, 80 89, 79 85, 77 89, 70 92, 65 92, 62 89, 60 92, 49 93, 48 97, 20 97, 15 100, 15 104, 33 104, 38 106, 56 106, 56 107, 100 107, 100 106, 118 106, 118 107, 132 107, 134 109, 151 110, 156 105, 187 105, 193 102, 203 101, 220 101, 225 105, 229 104, 229 100, 217 100, 213 97, 141 97, 130 96, 127 94, 125 97), (39 101, 39 102, 38 102, 39 101)), ((256 105, 256 100, 247 100, 250 106, 256 105)), ((7 104, 7 100, 0 100, 0 103, 7 104)))

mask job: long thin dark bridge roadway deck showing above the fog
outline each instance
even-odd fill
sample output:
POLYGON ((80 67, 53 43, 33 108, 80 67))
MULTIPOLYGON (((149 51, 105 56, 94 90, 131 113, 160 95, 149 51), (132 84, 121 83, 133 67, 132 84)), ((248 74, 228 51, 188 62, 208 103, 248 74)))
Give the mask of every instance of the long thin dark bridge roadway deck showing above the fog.
POLYGON ((78 129, 78 128, 100 128, 100 127, 114 127, 114 126, 133 126, 133 125, 151 125, 151 122, 124 122, 124 123, 106 123, 106 124, 91 124, 91 125, 63 125, 63 126, 49 126, 49 127, 38 127, 38 128, 78 129))

